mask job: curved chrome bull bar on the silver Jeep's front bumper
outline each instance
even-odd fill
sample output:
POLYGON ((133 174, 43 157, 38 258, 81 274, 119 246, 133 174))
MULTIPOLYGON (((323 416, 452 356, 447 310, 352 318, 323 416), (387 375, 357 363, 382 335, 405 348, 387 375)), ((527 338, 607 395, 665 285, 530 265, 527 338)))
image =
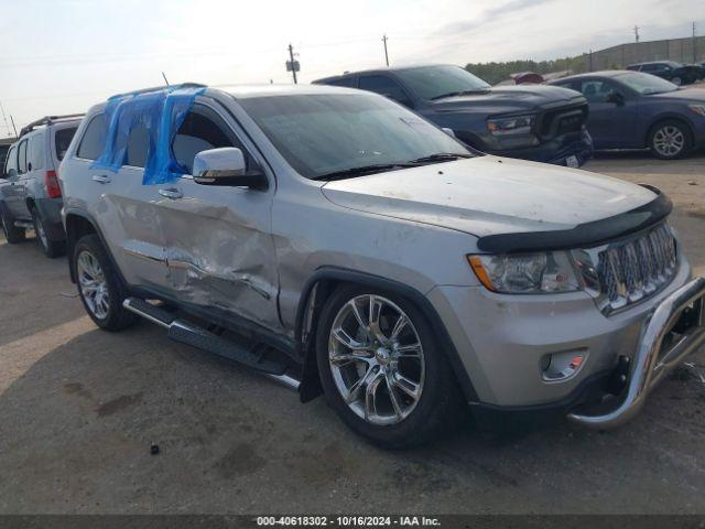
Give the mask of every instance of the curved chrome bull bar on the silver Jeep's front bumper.
POLYGON ((704 299, 705 278, 697 278, 663 300, 643 326, 619 403, 598 413, 573 411, 568 418, 578 424, 605 430, 634 417, 651 390, 686 356, 705 344, 704 299), (687 321, 677 328, 675 341, 664 346, 666 336, 676 323, 682 322, 686 310, 690 311, 687 321))

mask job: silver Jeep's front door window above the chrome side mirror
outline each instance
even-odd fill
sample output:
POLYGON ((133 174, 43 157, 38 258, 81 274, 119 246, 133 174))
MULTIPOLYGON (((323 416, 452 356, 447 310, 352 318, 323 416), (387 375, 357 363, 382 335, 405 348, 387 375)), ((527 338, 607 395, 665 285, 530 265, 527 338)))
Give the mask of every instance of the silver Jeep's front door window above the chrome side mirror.
POLYGON ((196 154, 221 147, 237 147, 245 155, 247 168, 251 166, 251 158, 230 128, 210 109, 196 106, 176 131, 172 152, 178 164, 191 174, 196 154))

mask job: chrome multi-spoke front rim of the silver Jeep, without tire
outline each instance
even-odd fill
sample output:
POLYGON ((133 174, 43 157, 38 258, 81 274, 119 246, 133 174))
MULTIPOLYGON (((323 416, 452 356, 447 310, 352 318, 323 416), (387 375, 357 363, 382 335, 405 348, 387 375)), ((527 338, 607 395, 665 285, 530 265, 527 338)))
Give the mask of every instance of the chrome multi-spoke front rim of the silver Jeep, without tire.
POLYGON ((381 295, 358 295, 338 310, 328 364, 345 403, 371 424, 403 421, 421 399, 425 359, 419 332, 399 305, 381 295))

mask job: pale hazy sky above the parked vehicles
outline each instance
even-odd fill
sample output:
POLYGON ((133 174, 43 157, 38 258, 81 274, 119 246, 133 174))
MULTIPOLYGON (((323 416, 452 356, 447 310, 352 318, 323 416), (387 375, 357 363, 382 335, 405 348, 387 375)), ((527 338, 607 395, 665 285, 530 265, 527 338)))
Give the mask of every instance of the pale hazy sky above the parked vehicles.
MULTIPOLYGON (((18 129, 186 80, 290 83, 383 64, 557 58, 705 34, 705 0, 0 0, 0 104, 18 129)), ((0 115, 0 136, 6 136, 0 115)))

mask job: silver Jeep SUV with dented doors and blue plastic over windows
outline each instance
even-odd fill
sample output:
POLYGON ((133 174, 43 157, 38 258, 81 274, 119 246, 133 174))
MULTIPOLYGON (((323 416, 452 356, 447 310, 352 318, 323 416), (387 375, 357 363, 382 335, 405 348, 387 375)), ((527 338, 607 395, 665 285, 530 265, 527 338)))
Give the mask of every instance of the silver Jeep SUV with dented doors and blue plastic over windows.
POLYGON ((96 324, 323 391, 383 446, 469 409, 622 423, 705 341, 705 279, 655 188, 486 156, 375 94, 119 95, 61 165, 96 324), (596 406, 597 404, 597 406, 596 406))

